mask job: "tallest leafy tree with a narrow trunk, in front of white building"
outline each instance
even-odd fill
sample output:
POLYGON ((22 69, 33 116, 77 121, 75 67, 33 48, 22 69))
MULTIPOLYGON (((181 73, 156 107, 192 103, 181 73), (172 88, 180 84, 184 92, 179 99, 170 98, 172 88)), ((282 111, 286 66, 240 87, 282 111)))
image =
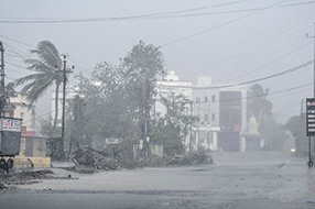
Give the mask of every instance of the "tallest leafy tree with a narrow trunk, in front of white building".
MULTIPOLYGON (((127 89, 138 106, 141 139, 145 142, 149 135, 150 111, 155 96, 159 76, 165 76, 164 61, 159 47, 145 45, 140 41, 122 59, 128 78, 127 89)), ((145 145, 145 144, 144 144, 145 145)))

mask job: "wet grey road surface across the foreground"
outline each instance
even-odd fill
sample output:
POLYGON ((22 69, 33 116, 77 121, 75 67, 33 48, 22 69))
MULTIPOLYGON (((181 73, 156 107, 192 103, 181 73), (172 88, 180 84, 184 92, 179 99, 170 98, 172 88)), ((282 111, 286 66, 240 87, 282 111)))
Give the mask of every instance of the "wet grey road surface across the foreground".
MULTIPOLYGON (((282 153, 214 153, 215 165, 52 179, 0 193, 0 208, 315 208, 315 170, 282 153)), ((54 169, 56 173, 68 173, 54 169)))

